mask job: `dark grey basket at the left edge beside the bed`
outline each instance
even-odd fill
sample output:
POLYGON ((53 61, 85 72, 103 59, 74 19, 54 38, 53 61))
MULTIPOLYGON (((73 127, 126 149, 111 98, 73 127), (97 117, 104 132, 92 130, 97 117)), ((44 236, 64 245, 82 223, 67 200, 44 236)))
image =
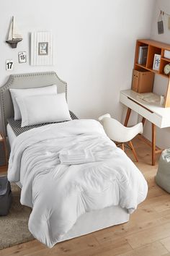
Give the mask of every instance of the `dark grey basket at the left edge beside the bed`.
POLYGON ((11 184, 6 176, 0 177, 0 216, 6 216, 12 205, 11 184))

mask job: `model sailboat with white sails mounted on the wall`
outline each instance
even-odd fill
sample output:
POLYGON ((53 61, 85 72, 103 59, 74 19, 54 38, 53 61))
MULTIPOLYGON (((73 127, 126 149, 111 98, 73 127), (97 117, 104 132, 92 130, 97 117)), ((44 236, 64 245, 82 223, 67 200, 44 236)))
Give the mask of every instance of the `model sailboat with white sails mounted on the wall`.
POLYGON ((17 31, 17 27, 14 22, 14 16, 13 16, 11 25, 9 27, 9 35, 8 35, 8 39, 6 40, 6 43, 9 43, 9 45, 12 48, 17 48, 17 43, 22 41, 22 39, 23 39, 22 35, 20 35, 17 31))

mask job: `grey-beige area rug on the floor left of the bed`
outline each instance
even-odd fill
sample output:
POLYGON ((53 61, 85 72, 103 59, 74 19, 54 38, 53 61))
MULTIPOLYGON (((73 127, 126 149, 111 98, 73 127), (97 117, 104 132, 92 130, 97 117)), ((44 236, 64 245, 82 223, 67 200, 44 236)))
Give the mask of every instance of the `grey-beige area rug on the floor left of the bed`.
POLYGON ((8 216, 0 216, 0 249, 34 239, 28 230, 31 209, 20 204, 20 189, 12 184, 12 208, 8 216))

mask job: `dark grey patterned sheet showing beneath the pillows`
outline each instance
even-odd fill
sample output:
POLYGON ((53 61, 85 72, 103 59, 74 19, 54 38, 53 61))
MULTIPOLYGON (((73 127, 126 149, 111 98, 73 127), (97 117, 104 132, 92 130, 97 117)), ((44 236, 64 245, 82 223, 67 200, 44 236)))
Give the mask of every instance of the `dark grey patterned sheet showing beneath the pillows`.
MULTIPOLYGON (((73 112, 70 111, 71 119, 78 119, 73 112)), ((46 123, 46 124, 35 124, 35 125, 30 125, 29 127, 21 127, 21 120, 14 121, 14 118, 8 119, 9 125, 12 127, 14 134, 15 135, 20 135, 22 132, 26 132, 29 129, 35 128, 35 127, 42 127, 47 124, 51 123, 46 123)), ((56 123, 61 123, 61 121, 56 121, 56 123)))

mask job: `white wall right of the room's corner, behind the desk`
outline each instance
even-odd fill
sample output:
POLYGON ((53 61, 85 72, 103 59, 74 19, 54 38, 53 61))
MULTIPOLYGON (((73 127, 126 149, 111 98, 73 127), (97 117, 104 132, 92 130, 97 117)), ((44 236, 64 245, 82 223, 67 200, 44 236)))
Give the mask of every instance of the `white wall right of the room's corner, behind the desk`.
MULTIPOLYGON (((155 8, 153 9, 153 22, 151 28, 151 38, 164 43, 170 43, 170 30, 168 29, 168 17, 164 15, 164 34, 158 35, 158 15, 160 9, 170 14, 169 0, 156 0, 155 8)), ((156 75, 154 82, 154 92, 159 95, 165 95, 168 80, 164 77, 156 75)), ((170 147, 170 128, 159 129, 156 128, 156 145, 161 148, 170 147)), ((144 129, 144 135, 151 140, 151 124, 147 123, 144 129)))

